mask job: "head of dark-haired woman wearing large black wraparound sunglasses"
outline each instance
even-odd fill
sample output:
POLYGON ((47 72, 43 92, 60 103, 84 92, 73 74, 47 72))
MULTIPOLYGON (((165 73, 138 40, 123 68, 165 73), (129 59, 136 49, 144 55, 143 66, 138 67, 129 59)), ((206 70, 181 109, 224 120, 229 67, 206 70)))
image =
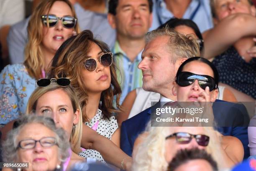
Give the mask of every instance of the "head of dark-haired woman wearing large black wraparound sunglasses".
POLYGON ((205 58, 193 57, 184 61, 179 66, 175 82, 177 92, 174 94, 179 102, 214 102, 218 97, 219 74, 205 58))

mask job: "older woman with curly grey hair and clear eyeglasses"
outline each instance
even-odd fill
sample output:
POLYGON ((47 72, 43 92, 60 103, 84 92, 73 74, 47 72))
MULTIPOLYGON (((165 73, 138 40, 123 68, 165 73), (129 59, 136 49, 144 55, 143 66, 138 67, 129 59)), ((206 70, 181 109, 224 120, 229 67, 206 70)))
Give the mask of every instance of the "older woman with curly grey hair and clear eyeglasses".
POLYGON ((44 116, 24 116, 19 123, 3 143, 4 161, 20 163, 17 166, 20 171, 61 169, 69 156, 64 130, 56 128, 54 121, 44 116))

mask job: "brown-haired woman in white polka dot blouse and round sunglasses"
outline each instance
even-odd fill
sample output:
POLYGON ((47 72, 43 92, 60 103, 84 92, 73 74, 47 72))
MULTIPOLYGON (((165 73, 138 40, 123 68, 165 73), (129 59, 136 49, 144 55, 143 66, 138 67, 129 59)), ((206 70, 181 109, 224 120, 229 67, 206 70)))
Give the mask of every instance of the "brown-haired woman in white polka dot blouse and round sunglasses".
MULTIPOLYGON (((113 112, 118 112, 113 107, 114 95, 117 95, 116 104, 119 107, 121 90, 116 78, 112 53, 105 43, 94 39, 89 30, 82 31, 67 41, 70 42, 61 45, 54 56, 49 78, 67 77, 70 79, 82 105, 83 123, 96 130, 100 135, 109 138, 119 147, 120 130, 112 115, 113 112)), ((87 140, 92 139, 95 142, 95 137, 87 134, 85 125, 83 125, 81 146, 87 150, 80 153, 80 156, 83 157, 90 156, 91 153, 86 148, 87 140)), ((95 145, 93 146, 95 147, 95 145)), ((94 149, 100 151, 99 146, 94 149)), ((115 166, 119 168, 126 167, 125 165, 131 160, 118 148, 111 148, 109 153, 113 157, 104 159, 111 163, 113 161, 121 163, 125 158, 121 166, 120 163, 114 162, 115 166)), ((98 159, 102 158, 95 155, 98 159)))

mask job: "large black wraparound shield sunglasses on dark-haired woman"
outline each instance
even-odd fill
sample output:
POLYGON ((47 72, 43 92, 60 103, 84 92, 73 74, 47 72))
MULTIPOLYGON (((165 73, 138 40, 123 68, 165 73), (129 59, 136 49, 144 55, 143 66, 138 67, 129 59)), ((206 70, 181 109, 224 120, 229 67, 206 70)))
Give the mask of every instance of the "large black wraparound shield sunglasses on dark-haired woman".
POLYGON ((198 75, 187 71, 180 72, 180 74, 176 77, 175 82, 181 87, 186 87, 195 82, 196 79, 198 80, 198 84, 202 89, 209 87, 210 92, 214 89, 217 89, 217 84, 215 83, 214 78, 211 76, 198 75))

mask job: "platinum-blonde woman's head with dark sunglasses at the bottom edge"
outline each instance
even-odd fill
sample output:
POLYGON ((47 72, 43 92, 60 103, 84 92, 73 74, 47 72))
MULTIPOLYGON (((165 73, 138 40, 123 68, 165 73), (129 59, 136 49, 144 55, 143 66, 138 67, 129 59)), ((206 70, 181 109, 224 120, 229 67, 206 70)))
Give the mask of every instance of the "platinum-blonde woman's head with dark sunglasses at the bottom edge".
POLYGON ((133 170, 166 171, 168 163, 180 149, 199 148, 217 161, 219 168, 230 166, 221 147, 220 133, 212 127, 147 127, 148 132, 136 140, 133 170))

